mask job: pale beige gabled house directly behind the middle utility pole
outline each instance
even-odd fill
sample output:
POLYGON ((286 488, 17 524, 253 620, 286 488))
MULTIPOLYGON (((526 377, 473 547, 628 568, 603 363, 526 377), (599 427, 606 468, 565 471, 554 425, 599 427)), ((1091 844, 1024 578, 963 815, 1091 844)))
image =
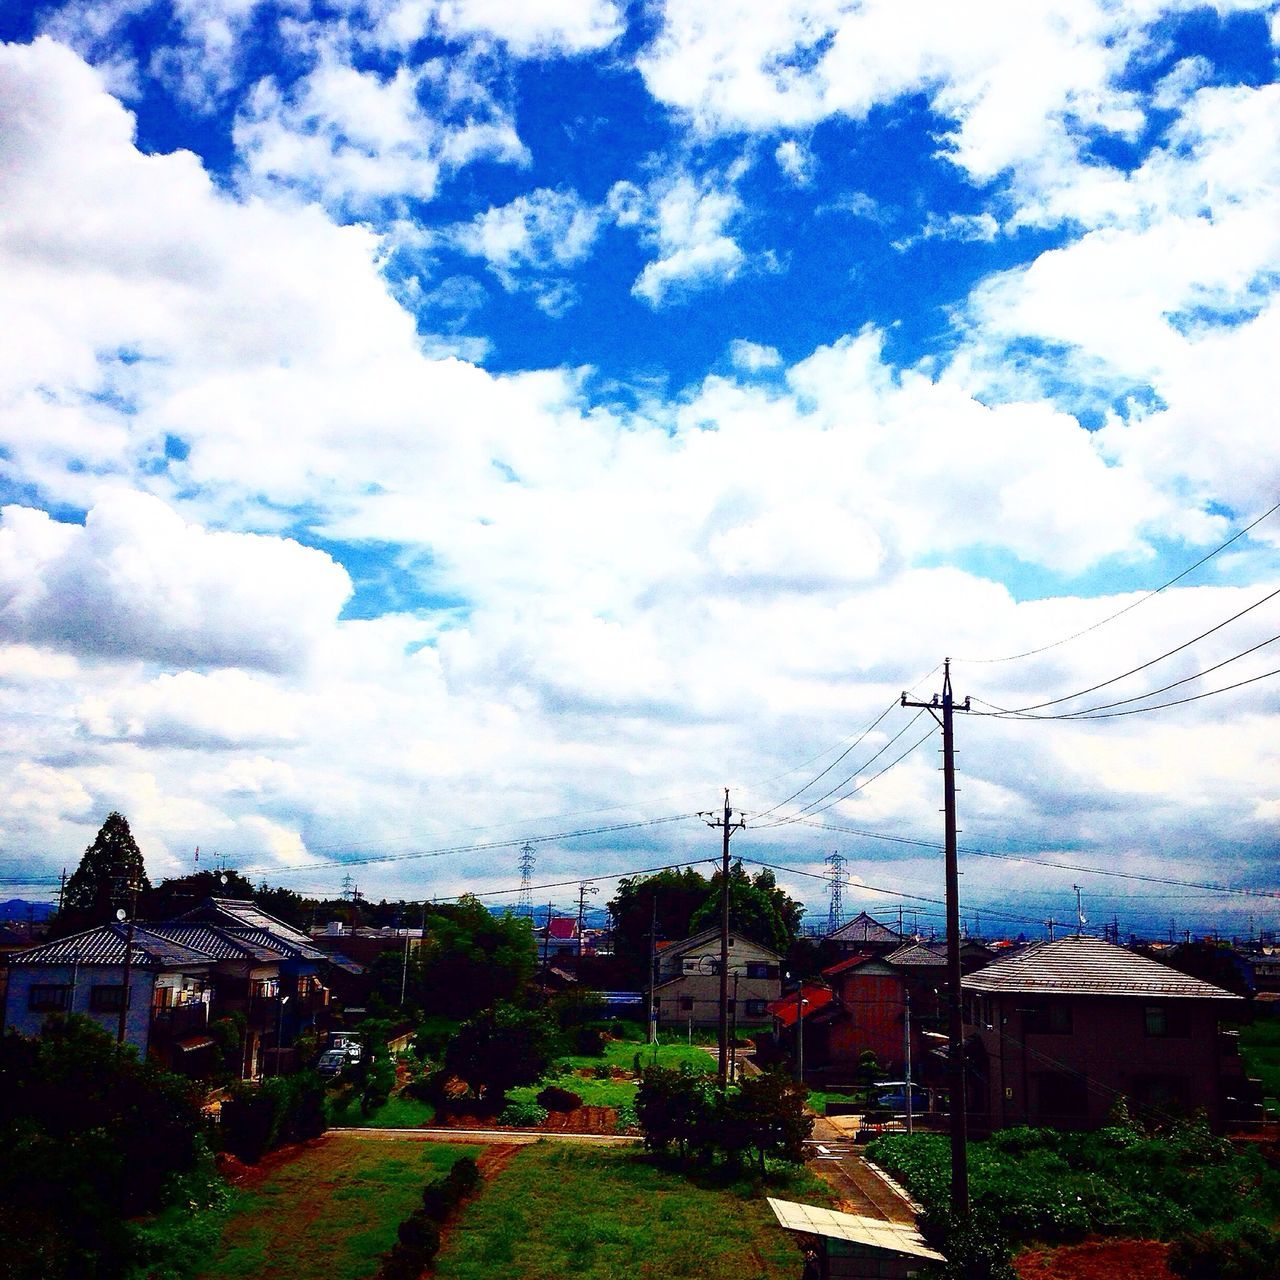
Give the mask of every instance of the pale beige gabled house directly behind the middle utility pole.
MULTIPOLYGON (((659 1027, 719 1024, 721 932, 704 929, 658 952, 654 1012, 659 1027)), ((769 1002, 782 995, 782 957, 759 942, 728 940, 730 1016, 740 1025, 768 1020, 769 1002)))

